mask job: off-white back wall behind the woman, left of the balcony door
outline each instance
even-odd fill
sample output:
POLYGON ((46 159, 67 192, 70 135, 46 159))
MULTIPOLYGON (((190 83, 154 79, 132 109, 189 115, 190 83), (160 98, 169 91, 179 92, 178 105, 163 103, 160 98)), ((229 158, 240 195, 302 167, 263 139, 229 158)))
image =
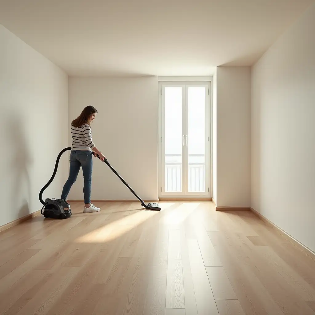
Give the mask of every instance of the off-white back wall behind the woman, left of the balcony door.
MULTIPOLYGON (((69 124, 87 105, 98 115, 92 125, 97 148, 146 200, 158 198, 157 77, 69 78, 69 124)), ((135 196, 106 166, 95 159, 92 200, 133 200, 135 196)), ((69 200, 83 200, 82 170, 69 200)))

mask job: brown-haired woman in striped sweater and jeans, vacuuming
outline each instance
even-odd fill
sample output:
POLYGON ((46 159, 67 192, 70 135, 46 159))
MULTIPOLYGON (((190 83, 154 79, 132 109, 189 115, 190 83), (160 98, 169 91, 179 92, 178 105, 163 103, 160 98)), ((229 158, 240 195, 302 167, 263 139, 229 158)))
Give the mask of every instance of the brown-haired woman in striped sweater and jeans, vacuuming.
POLYGON ((91 203, 91 183, 92 183, 92 150, 95 157, 97 154, 100 160, 104 161, 104 155, 97 149, 92 140, 90 123, 96 117, 97 110, 93 106, 83 109, 79 117, 71 123, 72 145, 70 153, 69 178, 63 187, 61 199, 67 200, 67 196, 74 182, 77 179, 80 167, 83 171, 83 194, 84 194, 84 213, 100 211, 91 203))

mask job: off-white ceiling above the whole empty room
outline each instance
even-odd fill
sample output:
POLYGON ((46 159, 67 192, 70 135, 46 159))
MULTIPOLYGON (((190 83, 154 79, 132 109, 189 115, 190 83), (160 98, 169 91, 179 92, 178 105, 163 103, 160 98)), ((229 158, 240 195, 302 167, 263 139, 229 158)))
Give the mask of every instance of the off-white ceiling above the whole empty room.
POLYGON ((252 65, 314 0, 0 0, 0 23, 70 75, 252 65))

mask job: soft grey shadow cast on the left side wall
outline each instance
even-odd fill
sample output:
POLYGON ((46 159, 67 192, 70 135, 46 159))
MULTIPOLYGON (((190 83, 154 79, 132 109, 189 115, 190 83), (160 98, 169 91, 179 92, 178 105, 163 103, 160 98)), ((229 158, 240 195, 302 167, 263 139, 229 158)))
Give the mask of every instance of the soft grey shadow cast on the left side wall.
POLYGON ((10 165, 12 169, 12 204, 16 219, 30 214, 31 202, 31 180, 29 168, 33 163, 30 148, 27 146, 25 123, 17 115, 9 115, 14 119, 8 120, 7 131, 12 150, 9 152, 10 165))

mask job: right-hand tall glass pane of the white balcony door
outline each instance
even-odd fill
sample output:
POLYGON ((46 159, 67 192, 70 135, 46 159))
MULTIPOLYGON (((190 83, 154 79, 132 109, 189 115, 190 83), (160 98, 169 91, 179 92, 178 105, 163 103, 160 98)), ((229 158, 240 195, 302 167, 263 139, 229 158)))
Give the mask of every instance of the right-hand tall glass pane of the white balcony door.
POLYGON ((188 88, 188 192, 205 192, 206 88, 188 88))

